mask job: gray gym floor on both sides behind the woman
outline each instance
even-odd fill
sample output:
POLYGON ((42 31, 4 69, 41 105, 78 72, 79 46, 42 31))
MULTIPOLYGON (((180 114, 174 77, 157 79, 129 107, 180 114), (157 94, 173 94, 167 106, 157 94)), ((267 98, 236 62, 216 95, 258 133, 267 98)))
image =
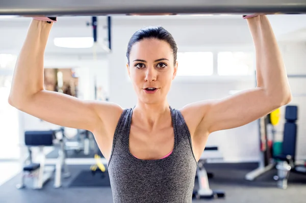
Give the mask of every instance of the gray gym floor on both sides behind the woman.
MULTIPOLYGON (((273 176, 276 171, 265 173, 255 182, 244 180, 247 172, 257 167, 257 164, 207 164, 206 169, 214 173, 210 179, 212 189, 225 191, 224 199, 209 200, 214 203, 258 203, 258 202, 290 202, 304 203, 306 191, 306 176, 290 174, 286 190, 276 188, 273 176)), ((89 170, 87 165, 69 165, 71 177, 63 180, 61 188, 53 188, 53 180, 46 183, 41 190, 25 188, 18 190, 15 185, 19 183, 20 174, 0 186, 0 202, 14 203, 54 203, 54 202, 104 202, 111 203, 112 193, 110 187, 73 187, 69 184, 79 175, 80 171, 89 170)), ((95 176, 99 178, 98 176, 95 176)), ((206 202, 208 200, 193 200, 193 202, 206 202)))

